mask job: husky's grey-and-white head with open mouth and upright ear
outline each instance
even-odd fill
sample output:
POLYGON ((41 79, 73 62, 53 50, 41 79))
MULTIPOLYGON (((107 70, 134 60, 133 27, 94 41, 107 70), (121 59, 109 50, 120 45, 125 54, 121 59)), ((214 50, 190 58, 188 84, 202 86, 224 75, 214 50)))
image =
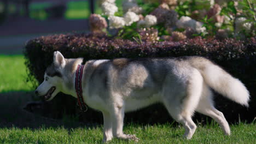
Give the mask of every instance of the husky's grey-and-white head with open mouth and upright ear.
POLYGON ((54 61, 46 69, 44 73, 44 81, 38 86, 35 93, 44 100, 52 100, 57 93, 62 91, 63 83, 63 69, 66 65, 66 59, 59 51, 54 52, 54 61))

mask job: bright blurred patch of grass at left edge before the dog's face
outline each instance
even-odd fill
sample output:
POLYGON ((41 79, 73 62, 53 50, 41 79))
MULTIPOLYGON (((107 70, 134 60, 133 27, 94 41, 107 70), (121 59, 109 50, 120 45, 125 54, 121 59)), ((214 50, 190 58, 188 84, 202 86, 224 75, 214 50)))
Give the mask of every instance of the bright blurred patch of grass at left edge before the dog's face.
POLYGON ((24 62, 22 55, 0 55, 0 93, 32 90, 32 83, 26 82, 24 62))

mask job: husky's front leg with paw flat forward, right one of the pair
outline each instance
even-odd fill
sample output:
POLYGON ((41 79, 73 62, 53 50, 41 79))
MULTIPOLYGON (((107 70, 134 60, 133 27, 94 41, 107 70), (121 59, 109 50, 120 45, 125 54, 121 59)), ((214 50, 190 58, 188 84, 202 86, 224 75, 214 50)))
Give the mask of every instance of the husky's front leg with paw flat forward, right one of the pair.
POLYGON ((113 135, 118 139, 138 141, 139 139, 135 135, 126 135, 123 133, 123 125, 124 125, 124 107, 114 106, 114 110, 112 113, 113 135))

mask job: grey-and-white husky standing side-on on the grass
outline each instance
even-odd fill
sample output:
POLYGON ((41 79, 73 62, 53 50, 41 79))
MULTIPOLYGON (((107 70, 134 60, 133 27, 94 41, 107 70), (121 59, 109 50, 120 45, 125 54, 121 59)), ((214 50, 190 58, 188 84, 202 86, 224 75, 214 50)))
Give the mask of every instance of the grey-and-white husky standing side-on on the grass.
MULTIPOLYGON (((53 59, 36 94, 45 100, 59 92, 78 98, 77 68, 83 58, 66 59, 56 51, 53 59)), ((113 137, 138 141, 135 135, 123 133, 124 113, 154 103, 162 103, 182 123, 185 139, 195 133, 191 119, 195 111, 212 117, 230 135, 223 113, 214 107, 211 88, 238 104, 248 106, 249 101, 241 81, 199 56, 91 60, 81 72, 82 103, 103 113, 103 142, 113 137)))

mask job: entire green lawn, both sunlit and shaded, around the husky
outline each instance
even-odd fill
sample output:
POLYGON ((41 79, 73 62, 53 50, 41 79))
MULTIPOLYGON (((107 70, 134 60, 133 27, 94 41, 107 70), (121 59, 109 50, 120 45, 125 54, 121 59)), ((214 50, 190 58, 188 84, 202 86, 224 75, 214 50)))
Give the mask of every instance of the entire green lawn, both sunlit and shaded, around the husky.
MULTIPOLYGON (((101 143, 102 124, 79 123, 70 117, 43 118, 22 110, 33 95, 24 62, 22 55, 0 55, 0 143, 101 143)), ((124 133, 135 134, 138 143, 256 143, 255 122, 231 125, 231 136, 223 135, 215 122, 197 126, 191 140, 183 139, 181 125, 170 123, 125 123, 124 133)), ((136 142, 113 139, 109 143, 136 142)))

